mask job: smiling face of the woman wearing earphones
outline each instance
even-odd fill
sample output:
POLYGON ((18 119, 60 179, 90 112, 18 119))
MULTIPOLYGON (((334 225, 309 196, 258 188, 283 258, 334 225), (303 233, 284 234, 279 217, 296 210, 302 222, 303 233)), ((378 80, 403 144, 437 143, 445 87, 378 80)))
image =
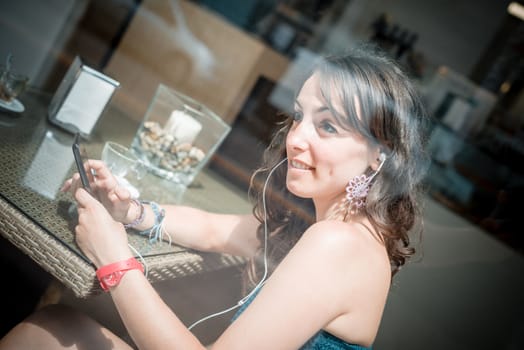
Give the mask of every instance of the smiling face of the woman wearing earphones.
MULTIPOLYGON (((333 105, 343 111, 340 101, 333 101, 333 105)), ((358 111, 358 105, 355 107, 358 111)), ((295 101, 286 151, 289 191, 302 198, 327 201, 340 200, 348 181, 373 166, 377 157, 360 134, 342 128, 332 115, 321 95, 318 74, 304 83, 295 101)))

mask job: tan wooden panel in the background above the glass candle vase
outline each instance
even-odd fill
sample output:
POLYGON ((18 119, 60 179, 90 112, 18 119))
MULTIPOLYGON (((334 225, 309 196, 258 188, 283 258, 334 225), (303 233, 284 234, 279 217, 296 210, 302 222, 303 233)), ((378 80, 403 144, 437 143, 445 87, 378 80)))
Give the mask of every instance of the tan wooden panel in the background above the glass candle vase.
POLYGON ((258 76, 278 80, 287 59, 194 3, 178 2, 183 18, 170 4, 145 0, 138 9, 105 69, 121 83, 113 103, 141 120, 163 83, 232 123, 258 76))

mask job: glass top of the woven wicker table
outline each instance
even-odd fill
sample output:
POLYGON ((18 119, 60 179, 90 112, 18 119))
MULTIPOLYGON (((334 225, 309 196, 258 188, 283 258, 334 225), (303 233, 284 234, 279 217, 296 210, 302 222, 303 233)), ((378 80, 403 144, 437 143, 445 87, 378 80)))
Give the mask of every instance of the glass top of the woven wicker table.
MULTIPOLYGON (((47 106, 51 97, 28 90, 20 98, 25 106, 23 113, 0 110, 0 195, 87 261, 74 242, 74 201, 70 193, 60 192, 64 181, 76 171, 71 151, 74 137, 49 123, 47 106)), ((108 140, 129 146, 139 124, 109 104, 84 143, 87 154, 99 159, 108 140)), ((158 203, 184 203, 215 212, 250 212, 247 195, 217 180, 212 173, 201 172, 193 184, 184 191, 146 174, 139 190, 142 199, 158 203)), ((143 256, 187 251, 167 242, 150 243, 147 237, 133 233, 129 243, 143 256)))

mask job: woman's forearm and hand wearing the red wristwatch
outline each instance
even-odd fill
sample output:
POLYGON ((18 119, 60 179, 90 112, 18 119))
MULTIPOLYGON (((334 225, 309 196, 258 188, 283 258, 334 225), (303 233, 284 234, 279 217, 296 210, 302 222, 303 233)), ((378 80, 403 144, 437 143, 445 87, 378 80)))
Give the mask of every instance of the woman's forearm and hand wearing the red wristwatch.
MULTIPOLYGON (((77 190, 76 242, 96 268, 133 256, 122 224, 83 189, 77 190)), ((141 349, 203 349, 194 335, 161 300, 139 270, 127 271, 111 288, 117 310, 141 349)))

